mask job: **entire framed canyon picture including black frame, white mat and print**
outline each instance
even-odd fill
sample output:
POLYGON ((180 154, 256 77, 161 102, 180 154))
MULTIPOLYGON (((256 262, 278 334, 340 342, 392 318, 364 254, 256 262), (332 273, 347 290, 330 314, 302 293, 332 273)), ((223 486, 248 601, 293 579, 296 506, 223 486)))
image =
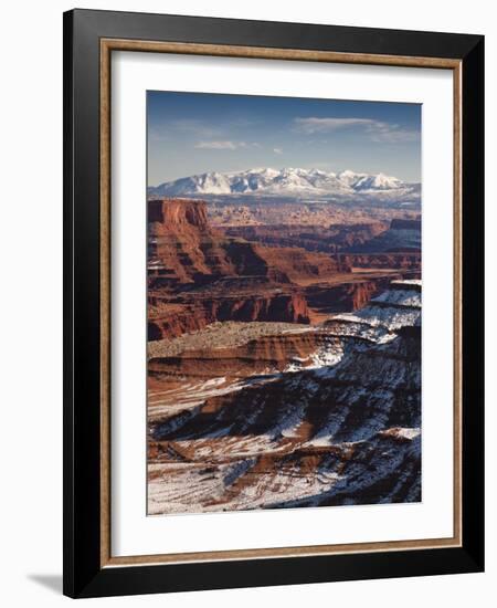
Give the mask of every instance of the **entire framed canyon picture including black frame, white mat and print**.
POLYGON ((484 568, 484 40, 64 14, 64 593, 484 568))

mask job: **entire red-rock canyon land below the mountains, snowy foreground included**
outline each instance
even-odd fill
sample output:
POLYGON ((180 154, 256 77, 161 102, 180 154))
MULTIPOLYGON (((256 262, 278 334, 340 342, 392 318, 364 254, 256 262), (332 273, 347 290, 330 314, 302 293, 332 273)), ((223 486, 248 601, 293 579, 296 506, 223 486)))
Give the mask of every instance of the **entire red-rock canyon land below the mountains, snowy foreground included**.
POLYGON ((150 515, 421 500, 419 213, 285 205, 148 202, 150 515))

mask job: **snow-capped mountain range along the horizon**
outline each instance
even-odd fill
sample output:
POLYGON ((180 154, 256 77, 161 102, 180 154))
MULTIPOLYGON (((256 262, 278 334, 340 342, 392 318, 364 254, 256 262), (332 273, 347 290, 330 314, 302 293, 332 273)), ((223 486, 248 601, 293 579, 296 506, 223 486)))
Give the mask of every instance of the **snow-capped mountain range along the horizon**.
POLYGON ((383 174, 346 170, 260 168, 237 172, 207 172, 166 181, 148 188, 157 197, 268 196, 296 199, 417 201, 420 184, 410 184, 383 174))

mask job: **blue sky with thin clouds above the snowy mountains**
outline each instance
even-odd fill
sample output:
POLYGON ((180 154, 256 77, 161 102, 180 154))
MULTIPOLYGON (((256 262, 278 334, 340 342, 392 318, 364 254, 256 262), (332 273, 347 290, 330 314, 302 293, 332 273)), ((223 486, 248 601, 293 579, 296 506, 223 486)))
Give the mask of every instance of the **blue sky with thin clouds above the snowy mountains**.
POLYGON ((421 181, 421 105, 149 91, 148 185, 300 167, 421 181))

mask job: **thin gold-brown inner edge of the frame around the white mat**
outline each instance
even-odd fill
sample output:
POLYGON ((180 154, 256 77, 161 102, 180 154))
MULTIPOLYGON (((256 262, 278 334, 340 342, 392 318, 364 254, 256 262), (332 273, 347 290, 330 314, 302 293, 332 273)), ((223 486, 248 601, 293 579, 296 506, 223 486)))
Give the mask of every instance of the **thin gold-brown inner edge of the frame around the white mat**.
POLYGON ((99 203, 101 203, 101 567, 269 559, 350 553, 377 553, 462 546, 462 61, 444 57, 339 53, 302 49, 236 46, 184 42, 101 39, 99 203), (452 70, 454 166, 454 534, 450 538, 349 543, 255 549, 112 556, 110 520, 110 55, 113 51, 179 53, 245 59, 273 59, 363 65, 452 70))

